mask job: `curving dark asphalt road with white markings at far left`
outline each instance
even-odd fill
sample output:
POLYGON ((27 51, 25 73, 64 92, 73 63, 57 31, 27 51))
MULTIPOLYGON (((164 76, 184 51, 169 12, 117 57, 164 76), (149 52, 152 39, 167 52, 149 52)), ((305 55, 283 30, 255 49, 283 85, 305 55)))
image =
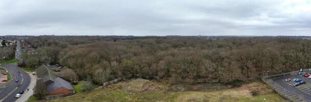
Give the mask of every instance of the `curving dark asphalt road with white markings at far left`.
MULTIPOLYGON (((22 59, 21 56, 21 48, 20 48, 20 42, 17 42, 17 47, 16 47, 16 58, 18 60, 22 59)), ((8 71, 10 71, 12 74, 14 74, 16 76, 16 79, 18 79, 18 82, 15 82, 14 79, 14 83, 6 88, 2 88, 0 89, 0 101, 3 102, 11 102, 11 101, 16 101, 17 98, 15 98, 15 95, 18 94, 20 91, 22 90, 27 90, 29 84, 30 84, 30 76, 27 72, 17 68, 17 64, 16 63, 11 63, 11 64, 3 64, 1 65, 1 67, 7 69, 8 71), (15 67, 13 67, 13 65, 15 65, 15 67), (14 91, 15 90, 15 91, 14 91), (8 97, 7 97, 8 95, 8 97)))

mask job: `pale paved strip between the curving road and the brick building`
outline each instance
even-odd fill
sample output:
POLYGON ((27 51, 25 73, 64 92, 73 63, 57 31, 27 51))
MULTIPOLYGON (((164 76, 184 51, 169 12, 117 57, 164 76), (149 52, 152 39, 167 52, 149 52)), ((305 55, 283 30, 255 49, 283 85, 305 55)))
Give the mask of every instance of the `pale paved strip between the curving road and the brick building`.
POLYGON ((34 87, 36 85, 37 81, 37 75, 33 75, 32 72, 28 73, 31 78, 30 85, 28 86, 29 90, 26 90, 25 93, 23 93, 17 100, 16 102, 25 102, 31 95, 34 93, 34 87))

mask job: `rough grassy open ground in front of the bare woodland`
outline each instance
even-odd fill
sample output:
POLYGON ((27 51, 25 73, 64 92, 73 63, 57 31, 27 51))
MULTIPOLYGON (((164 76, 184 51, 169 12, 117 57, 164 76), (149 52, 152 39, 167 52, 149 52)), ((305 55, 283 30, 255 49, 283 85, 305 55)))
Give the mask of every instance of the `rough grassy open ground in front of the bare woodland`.
POLYGON ((172 85, 133 80, 44 101, 263 101, 264 98, 266 101, 286 101, 260 81, 232 87, 219 83, 172 85))

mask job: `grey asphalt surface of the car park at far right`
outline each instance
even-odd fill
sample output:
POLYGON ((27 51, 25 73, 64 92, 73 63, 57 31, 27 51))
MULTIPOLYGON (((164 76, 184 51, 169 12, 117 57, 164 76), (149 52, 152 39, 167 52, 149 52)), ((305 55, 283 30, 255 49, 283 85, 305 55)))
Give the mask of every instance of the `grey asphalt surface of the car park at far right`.
MULTIPOLYGON (((295 75, 289 75, 289 76, 285 76, 285 77, 281 77, 281 78, 276 78, 273 79, 274 82, 276 82, 278 85, 282 86, 284 89, 290 91, 291 93, 297 95, 298 97, 300 97, 303 100, 309 101, 311 102, 311 91, 303 91, 301 90, 302 88, 297 88, 293 86, 293 81, 289 81, 289 82, 285 82, 285 79, 288 78, 298 78, 301 79, 302 81, 305 81, 307 84, 304 85, 304 90, 311 90, 309 87, 309 85, 311 85, 311 80, 305 77, 302 77, 301 75, 295 74, 295 75)), ((302 85, 300 85, 302 86, 302 85)), ((299 87, 299 86, 298 86, 299 87)))

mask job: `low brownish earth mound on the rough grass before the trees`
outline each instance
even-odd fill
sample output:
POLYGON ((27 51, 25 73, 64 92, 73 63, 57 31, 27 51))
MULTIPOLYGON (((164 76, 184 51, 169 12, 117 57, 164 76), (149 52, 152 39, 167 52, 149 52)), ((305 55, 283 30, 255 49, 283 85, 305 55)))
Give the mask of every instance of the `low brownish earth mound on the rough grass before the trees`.
POLYGON ((145 79, 135 79, 123 84, 123 89, 129 92, 141 93, 161 90, 162 87, 145 79))

